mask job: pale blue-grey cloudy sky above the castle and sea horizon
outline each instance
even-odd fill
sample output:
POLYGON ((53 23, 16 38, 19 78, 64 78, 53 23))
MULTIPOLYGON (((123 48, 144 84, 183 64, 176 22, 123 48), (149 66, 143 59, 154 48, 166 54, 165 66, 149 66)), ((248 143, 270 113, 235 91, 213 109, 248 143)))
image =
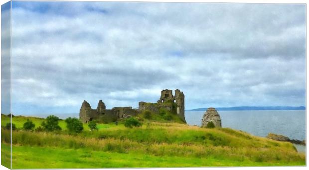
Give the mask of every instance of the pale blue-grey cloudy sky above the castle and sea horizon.
POLYGON ((305 106, 304 4, 12 2, 13 113, 305 106))

